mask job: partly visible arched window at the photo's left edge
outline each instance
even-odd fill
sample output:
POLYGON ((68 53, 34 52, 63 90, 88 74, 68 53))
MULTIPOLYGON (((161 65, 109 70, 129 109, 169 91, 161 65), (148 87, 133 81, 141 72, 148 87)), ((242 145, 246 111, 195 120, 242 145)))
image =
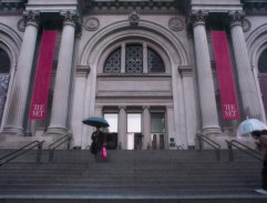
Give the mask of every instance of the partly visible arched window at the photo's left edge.
POLYGON ((7 91, 9 85, 10 59, 8 53, 0 48, 0 120, 2 119, 7 91))

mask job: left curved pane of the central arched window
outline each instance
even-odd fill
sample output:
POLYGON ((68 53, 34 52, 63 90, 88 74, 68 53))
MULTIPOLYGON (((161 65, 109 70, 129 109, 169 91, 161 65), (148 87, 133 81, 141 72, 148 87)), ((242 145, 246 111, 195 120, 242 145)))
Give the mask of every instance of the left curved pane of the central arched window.
POLYGON ((109 55, 104 64, 104 72, 106 73, 121 72, 121 52, 122 52, 122 49, 117 48, 109 55))

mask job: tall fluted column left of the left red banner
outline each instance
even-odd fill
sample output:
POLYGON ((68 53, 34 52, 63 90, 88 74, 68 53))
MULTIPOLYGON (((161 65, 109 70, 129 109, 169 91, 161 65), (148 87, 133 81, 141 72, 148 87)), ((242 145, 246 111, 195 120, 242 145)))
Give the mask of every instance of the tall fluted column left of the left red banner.
POLYGON ((25 20, 25 32, 20 50, 16 81, 10 98, 7 123, 3 128, 3 132, 16 134, 24 134, 23 122, 29 104, 27 100, 40 20, 39 11, 28 11, 23 14, 25 20))

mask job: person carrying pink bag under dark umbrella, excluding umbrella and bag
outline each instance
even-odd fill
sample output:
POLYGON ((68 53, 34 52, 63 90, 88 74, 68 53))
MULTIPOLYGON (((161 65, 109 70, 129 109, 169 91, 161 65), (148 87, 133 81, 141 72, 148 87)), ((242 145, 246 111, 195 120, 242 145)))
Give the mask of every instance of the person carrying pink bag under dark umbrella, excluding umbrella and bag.
POLYGON ((100 130, 100 126, 96 126, 96 130, 92 133, 91 140, 91 152, 94 154, 95 161, 100 161, 101 150, 104 144, 104 133, 100 130))

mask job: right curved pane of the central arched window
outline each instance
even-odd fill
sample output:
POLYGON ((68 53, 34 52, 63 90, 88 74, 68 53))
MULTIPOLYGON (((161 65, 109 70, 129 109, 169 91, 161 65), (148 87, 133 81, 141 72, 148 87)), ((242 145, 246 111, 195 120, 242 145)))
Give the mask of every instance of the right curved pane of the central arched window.
POLYGON ((153 49, 147 49, 147 67, 148 72, 165 72, 162 58, 153 49))

